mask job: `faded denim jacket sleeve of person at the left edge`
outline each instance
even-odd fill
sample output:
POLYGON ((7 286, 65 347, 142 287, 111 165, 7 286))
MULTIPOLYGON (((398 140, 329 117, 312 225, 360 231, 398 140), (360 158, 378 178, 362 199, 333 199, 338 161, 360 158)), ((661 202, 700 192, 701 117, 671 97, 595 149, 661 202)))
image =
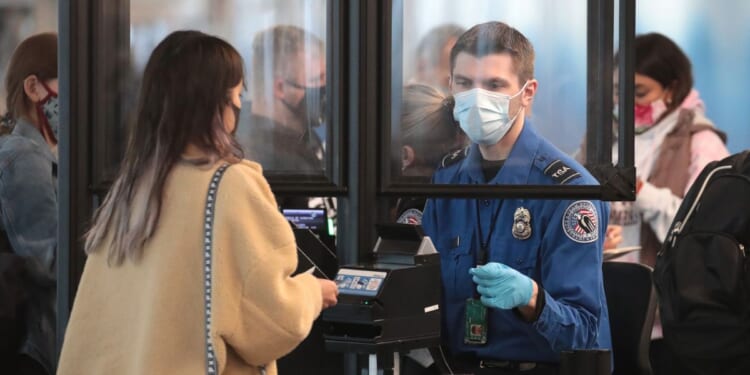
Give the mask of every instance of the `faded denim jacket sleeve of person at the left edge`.
POLYGON ((0 219, 13 251, 54 272, 57 251, 57 189, 52 162, 20 150, 0 174, 0 219))

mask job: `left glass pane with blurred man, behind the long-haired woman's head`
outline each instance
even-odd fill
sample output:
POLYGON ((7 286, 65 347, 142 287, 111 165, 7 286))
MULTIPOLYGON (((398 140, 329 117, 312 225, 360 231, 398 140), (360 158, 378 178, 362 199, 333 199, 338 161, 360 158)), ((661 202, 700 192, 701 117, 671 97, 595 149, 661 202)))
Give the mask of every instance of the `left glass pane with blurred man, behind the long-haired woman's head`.
MULTIPOLYGON (((180 29, 221 37, 244 58, 246 91, 236 137, 245 157, 259 162, 267 176, 294 175, 296 182, 324 177, 331 134, 327 1, 131 0, 120 127, 135 111, 139 77, 151 51, 180 29)), ((118 163, 120 150, 112 154, 109 162, 118 163)))

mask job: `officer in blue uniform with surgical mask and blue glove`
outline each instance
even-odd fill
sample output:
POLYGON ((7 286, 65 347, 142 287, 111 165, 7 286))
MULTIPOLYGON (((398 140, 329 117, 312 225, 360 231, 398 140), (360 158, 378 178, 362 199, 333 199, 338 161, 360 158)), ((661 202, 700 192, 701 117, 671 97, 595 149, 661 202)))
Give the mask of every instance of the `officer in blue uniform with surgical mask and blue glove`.
MULTIPOLYGON (((453 114, 472 144, 436 184, 596 185, 526 119, 539 83, 534 49, 501 22, 451 51, 453 114)), ((561 353, 611 350, 602 282, 609 209, 601 201, 427 201, 422 226, 441 256, 443 342, 454 373, 556 374, 561 353)))

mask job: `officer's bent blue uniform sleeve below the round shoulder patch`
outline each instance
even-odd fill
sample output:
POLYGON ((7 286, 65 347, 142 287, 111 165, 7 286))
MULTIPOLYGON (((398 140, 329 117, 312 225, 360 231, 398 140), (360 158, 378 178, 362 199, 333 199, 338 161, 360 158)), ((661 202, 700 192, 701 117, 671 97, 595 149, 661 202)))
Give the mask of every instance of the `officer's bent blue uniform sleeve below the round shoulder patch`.
POLYGON ((546 304, 534 323, 557 352, 597 348, 600 325, 606 322, 601 262, 609 208, 592 201, 598 211, 598 237, 581 243, 569 238, 561 224, 571 203, 560 202, 544 234, 540 276, 546 304))

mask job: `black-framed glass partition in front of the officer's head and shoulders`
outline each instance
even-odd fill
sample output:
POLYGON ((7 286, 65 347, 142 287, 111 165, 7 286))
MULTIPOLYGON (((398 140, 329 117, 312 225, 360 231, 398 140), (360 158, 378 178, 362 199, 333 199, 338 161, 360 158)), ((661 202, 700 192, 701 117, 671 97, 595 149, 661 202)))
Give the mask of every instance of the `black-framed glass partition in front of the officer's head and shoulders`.
MULTIPOLYGON (((632 8, 632 3, 618 4, 632 8)), ((392 1, 386 59, 390 117, 383 135, 381 191, 628 199, 629 158, 622 158, 626 162, 618 166, 611 158, 612 142, 617 140, 612 137, 617 130, 614 95, 602 94, 612 93, 617 74, 614 51, 620 46, 613 43, 614 8, 615 1, 591 0, 476 0, 461 6, 447 0, 392 1), (490 21, 520 34, 504 41, 475 36, 451 53, 462 33, 490 21), (495 53, 498 43, 510 53, 495 53), (502 126, 462 127, 462 117, 474 119, 464 125, 483 121, 502 126), (509 136, 502 138, 504 134, 509 136), (537 155, 534 152, 542 148, 528 148, 524 154, 524 145, 537 138, 551 145, 542 148, 554 150, 537 155), (520 141, 512 142, 516 139, 520 141), (488 157, 486 152, 493 148, 497 155, 488 157), (503 178, 502 171, 493 173, 501 170, 498 165, 485 163, 512 154, 527 159, 530 168, 543 170, 555 183, 503 178), (477 178, 431 180, 436 168, 463 159, 476 167, 477 178), (480 176, 485 171, 486 176, 480 176), (567 184, 589 173, 596 179, 567 184), (492 182, 493 188, 480 186, 485 182, 492 182), (439 186, 445 184, 475 186, 439 186)), ((623 140, 622 147, 614 147, 615 153, 626 152, 627 143, 623 140)))

